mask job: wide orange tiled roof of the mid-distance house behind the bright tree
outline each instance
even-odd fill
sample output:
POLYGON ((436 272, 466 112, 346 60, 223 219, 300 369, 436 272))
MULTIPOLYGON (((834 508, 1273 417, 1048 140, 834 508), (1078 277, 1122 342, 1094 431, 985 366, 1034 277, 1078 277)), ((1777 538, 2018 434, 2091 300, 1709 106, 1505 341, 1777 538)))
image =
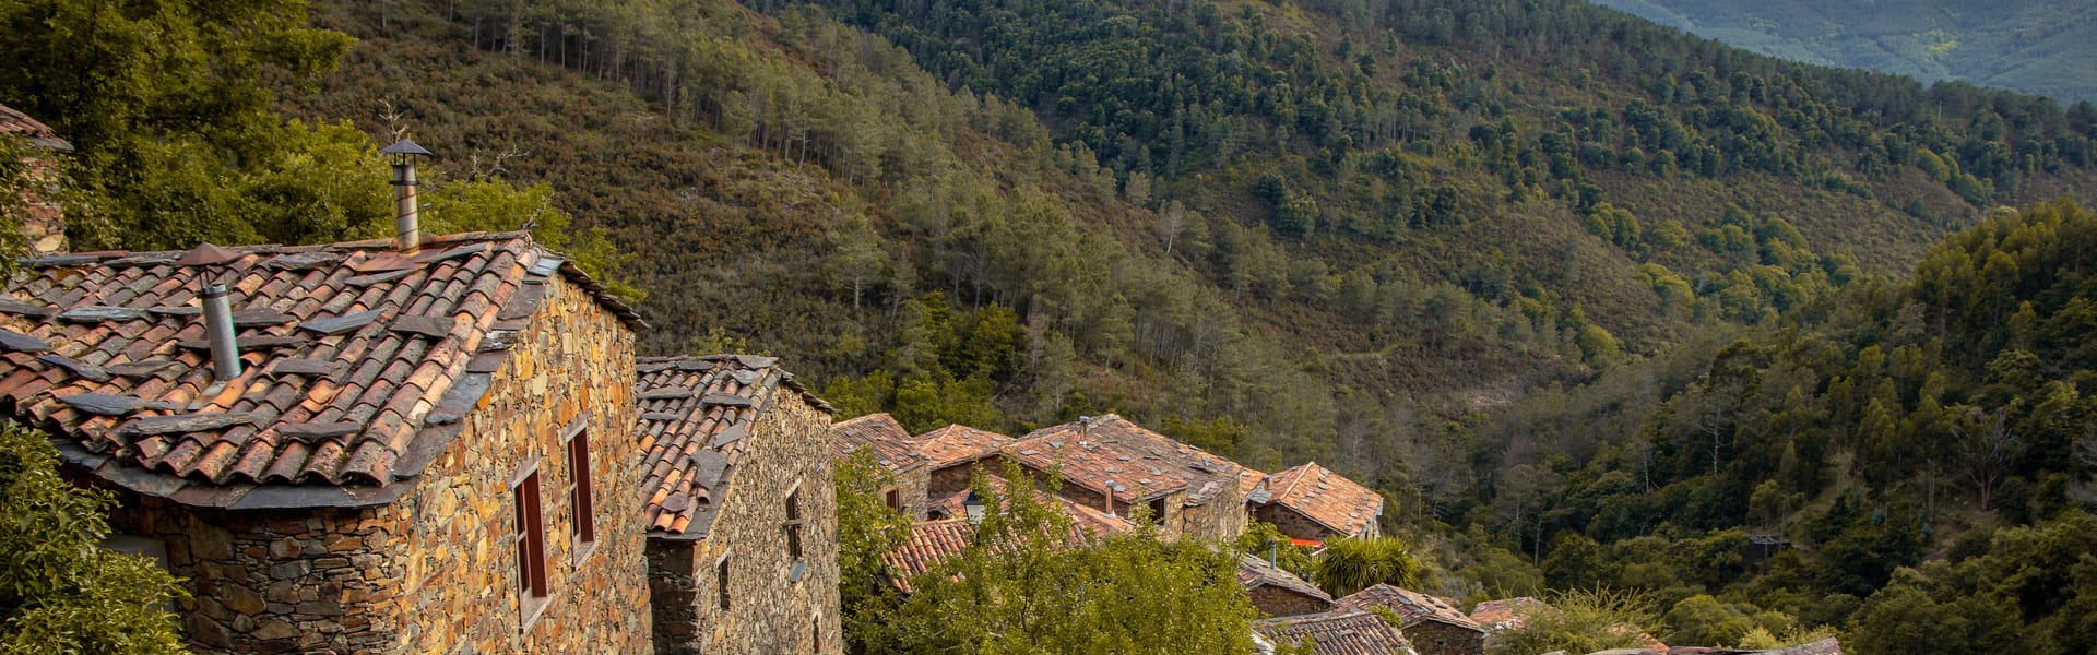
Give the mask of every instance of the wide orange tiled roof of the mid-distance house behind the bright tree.
POLYGON ((1065 483, 1130 504, 1185 489, 1197 506, 1235 489, 1244 468, 1114 414, 1034 430, 1004 451, 1032 468, 1061 466, 1065 483))

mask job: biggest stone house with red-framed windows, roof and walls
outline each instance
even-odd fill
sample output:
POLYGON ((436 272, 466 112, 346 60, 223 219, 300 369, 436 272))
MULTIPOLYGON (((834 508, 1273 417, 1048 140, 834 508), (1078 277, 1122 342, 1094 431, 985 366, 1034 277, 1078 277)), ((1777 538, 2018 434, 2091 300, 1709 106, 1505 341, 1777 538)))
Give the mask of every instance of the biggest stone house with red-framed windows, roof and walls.
POLYGON ((644 325, 526 233, 29 258, 0 328, 197 653, 650 647, 644 325))

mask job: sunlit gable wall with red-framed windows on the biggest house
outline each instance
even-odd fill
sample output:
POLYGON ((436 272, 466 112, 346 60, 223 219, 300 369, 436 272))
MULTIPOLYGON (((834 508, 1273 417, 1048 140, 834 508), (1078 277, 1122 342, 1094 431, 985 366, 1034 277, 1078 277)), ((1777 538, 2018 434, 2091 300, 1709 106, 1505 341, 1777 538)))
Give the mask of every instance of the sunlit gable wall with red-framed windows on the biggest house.
POLYGON ((547 281, 466 430, 430 462, 415 495, 390 653, 648 653, 633 332, 589 292, 547 281), (596 546, 575 542, 564 428, 591 449, 596 546), (537 462, 547 607, 524 630, 510 481, 537 462))

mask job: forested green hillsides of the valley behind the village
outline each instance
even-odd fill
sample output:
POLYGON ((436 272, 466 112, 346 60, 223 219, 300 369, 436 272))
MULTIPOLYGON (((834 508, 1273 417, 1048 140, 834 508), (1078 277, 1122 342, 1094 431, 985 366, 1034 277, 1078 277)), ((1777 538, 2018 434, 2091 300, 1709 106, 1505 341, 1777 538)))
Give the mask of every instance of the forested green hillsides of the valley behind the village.
POLYGON ((75 250, 384 235, 407 136, 426 231, 531 229, 640 300, 644 351, 780 355, 839 418, 1317 460, 1426 590, 1629 590, 1669 642, 2097 647, 2087 101, 1569 0, 0 25, 34 36, 0 103, 75 145, 75 250))

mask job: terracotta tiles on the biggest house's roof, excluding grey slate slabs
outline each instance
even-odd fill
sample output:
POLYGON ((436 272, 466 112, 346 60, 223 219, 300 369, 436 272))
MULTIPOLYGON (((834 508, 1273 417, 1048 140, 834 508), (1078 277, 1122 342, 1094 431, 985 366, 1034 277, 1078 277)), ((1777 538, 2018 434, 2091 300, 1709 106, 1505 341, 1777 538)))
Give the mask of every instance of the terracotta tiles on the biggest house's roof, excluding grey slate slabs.
MULTIPOLYGON (((459 288, 432 281, 426 273, 518 283, 533 275, 531 265, 552 260, 524 233, 426 239, 436 246, 463 241, 470 246, 451 250, 472 252, 449 258, 440 271, 413 265, 411 275, 365 290, 346 288, 344 279, 348 265, 373 252, 344 244, 304 250, 331 256, 315 262, 310 273, 271 267, 285 250, 281 246, 189 252, 208 265, 174 265, 185 252, 27 258, 0 294, 0 302, 21 304, 23 311, 0 317, 0 328, 50 344, 48 355, 57 357, 0 361, 0 393, 6 395, 0 409, 71 443, 61 451, 75 464, 157 474, 103 472, 120 483, 149 485, 161 495, 185 485, 226 487, 226 493, 185 498, 241 506, 243 493, 256 485, 304 485, 304 500, 294 506, 388 502, 390 495, 369 489, 405 491, 394 483, 413 479, 426 464, 405 462, 407 445, 426 432, 449 439, 442 430, 426 430, 426 418, 455 382, 474 376, 463 372, 466 361, 507 302, 503 296, 459 307, 459 288), (208 283, 239 290, 231 298, 237 338, 250 344, 241 353, 243 374, 224 382, 216 380, 206 348, 185 344, 203 338, 195 302, 197 290, 208 283), (338 334, 298 330, 300 323, 367 309, 386 319, 338 334), (442 315, 451 330, 430 336, 386 328, 411 309, 442 315), (273 372, 287 361, 346 363, 348 376, 273 372), (130 399, 130 405, 117 401, 111 405, 117 416, 96 416, 61 403, 80 395, 130 399), (241 420, 222 420, 229 416, 241 420), (281 426, 306 422, 352 426, 304 441, 281 437, 281 426), (363 491, 312 491, 321 487, 363 491)), ((388 248, 390 241, 373 246, 388 248)), ((436 246, 430 252, 449 252, 436 246)), ((579 271, 564 275, 585 279, 579 271)), ((623 317, 640 325, 631 313, 623 317)), ((132 487, 149 491, 138 485, 132 487)))

